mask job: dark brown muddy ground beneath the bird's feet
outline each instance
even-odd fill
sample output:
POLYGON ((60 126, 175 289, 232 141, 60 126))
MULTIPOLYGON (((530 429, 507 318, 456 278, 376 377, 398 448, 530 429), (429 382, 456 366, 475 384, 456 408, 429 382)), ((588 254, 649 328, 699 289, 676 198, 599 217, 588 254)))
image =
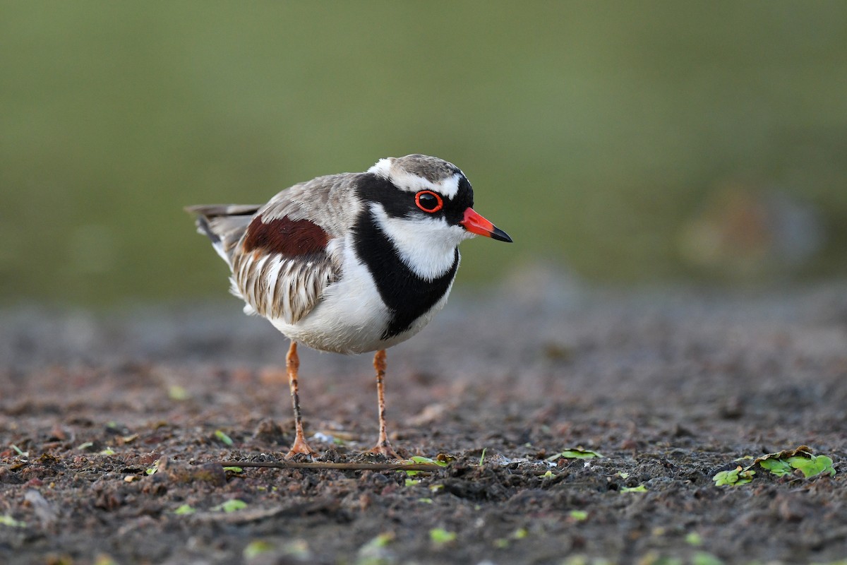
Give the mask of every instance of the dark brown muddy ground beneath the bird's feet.
MULTIPOLYGON (((0 562, 847 557, 847 285, 728 295, 548 283, 454 296, 390 350, 394 445, 455 458, 415 477, 220 468, 279 460, 292 439, 287 342, 234 299, 5 310, 0 562), (801 444, 838 474, 759 469, 748 485, 714 485, 738 457, 801 444), (554 457, 573 447, 605 457, 554 457)), ((304 348, 301 361, 324 461, 376 461, 359 457, 376 435, 370 357, 304 348)))

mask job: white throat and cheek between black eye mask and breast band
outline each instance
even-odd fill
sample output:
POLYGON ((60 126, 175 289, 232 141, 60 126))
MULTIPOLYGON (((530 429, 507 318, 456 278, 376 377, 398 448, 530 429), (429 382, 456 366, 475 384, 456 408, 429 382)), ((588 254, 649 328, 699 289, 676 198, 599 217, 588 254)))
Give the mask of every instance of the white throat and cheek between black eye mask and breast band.
POLYGON ((373 202, 370 211, 377 226, 390 239, 414 274, 435 280, 453 266, 456 248, 473 234, 444 218, 390 218, 382 204, 373 202))

